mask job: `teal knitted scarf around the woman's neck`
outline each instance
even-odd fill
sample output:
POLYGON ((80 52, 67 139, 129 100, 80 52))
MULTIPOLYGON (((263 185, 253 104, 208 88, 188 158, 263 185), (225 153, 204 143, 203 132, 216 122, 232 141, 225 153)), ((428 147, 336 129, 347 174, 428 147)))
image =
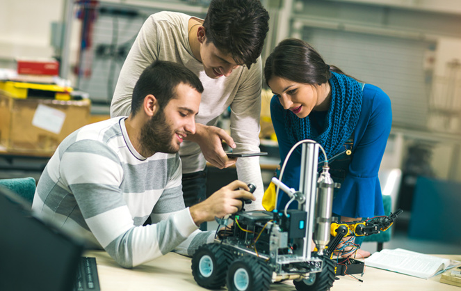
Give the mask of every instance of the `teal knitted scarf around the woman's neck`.
MULTIPOLYGON (((309 116, 298 118, 286 110, 285 129, 291 143, 303 139, 313 139, 325 149, 328 159, 337 154, 346 140, 354 132, 362 109, 362 85, 351 77, 332 72, 330 77, 332 100, 325 120, 323 132, 312 134, 309 116)), ((325 158, 318 155, 318 161, 325 158)))

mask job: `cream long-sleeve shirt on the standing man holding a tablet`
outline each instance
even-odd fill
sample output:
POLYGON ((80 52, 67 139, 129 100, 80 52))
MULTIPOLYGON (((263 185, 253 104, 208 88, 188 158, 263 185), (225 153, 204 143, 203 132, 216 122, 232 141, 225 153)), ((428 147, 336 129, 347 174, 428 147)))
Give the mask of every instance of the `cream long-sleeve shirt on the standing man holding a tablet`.
MULTIPOLYGON (((124 62, 115 87, 111 116, 128 116, 131 94, 141 72, 155 60, 181 63, 197 74, 204 86, 202 102, 195 122, 216 125, 218 117, 229 107, 231 136, 238 150, 259 151, 259 117, 261 114, 261 57, 251 69, 236 68, 229 77, 211 79, 203 64, 193 56, 188 40, 188 22, 191 16, 183 13, 161 12, 151 15, 143 24, 133 47, 124 62)), ((184 141, 179 151, 183 173, 194 173, 205 168, 206 161, 200 146, 184 141)), ((257 200, 248 210, 262 209, 264 186, 259 157, 245 157, 236 163, 238 180, 255 184, 257 200)))

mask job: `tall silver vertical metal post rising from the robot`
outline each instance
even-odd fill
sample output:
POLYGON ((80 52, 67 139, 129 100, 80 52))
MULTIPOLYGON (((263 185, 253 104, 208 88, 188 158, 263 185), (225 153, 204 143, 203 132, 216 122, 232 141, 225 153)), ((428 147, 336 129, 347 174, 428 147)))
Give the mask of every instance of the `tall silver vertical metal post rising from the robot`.
POLYGON ((300 191, 305 194, 305 203, 298 210, 307 212, 306 235, 302 238, 302 257, 311 258, 312 230, 314 227, 314 207, 317 191, 318 143, 302 143, 300 191))

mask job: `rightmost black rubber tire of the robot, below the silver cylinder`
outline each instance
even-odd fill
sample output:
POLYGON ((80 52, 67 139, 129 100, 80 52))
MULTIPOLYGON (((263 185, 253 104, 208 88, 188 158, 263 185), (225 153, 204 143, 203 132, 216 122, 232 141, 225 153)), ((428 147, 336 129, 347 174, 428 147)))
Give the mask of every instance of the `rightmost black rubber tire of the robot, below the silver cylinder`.
POLYGON ((322 272, 314 274, 314 277, 307 280, 296 281, 293 284, 298 291, 327 291, 334 283, 334 261, 323 255, 322 272))

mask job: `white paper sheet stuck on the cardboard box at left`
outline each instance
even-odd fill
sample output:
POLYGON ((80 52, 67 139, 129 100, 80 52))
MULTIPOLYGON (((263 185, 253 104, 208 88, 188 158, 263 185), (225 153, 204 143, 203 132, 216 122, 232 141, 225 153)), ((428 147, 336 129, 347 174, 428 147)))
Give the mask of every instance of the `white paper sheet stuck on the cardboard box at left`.
POLYGON ((59 134, 63 128, 65 113, 47 105, 38 104, 33 114, 32 125, 59 134))

